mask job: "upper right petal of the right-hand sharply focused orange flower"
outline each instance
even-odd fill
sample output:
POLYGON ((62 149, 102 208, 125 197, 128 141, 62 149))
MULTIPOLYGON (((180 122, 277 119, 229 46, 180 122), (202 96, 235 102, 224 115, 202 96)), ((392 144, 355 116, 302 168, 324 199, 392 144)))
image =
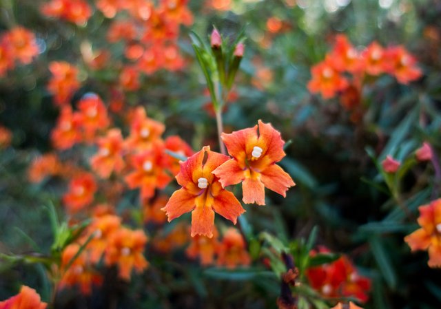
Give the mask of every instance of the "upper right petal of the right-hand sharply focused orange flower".
POLYGON ((263 149, 263 155, 269 156, 272 162, 278 162, 286 156, 285 151, 283 151, 283 145, 285 142, 280 136, 280 132, 274 129, 270 123, 263 123, 258 120, 259 125, 259 142, 262 141, 265 145, 263 149))

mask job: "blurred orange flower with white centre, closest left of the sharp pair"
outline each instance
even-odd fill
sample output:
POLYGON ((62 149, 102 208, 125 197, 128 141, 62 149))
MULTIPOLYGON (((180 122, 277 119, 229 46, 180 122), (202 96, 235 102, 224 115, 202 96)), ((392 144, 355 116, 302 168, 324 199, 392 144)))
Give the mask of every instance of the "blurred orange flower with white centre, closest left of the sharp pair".
POLYGON ((155 142, 152 149, 132 156, 134 171, 125 177, 130 189, 141 189, 141 198, 152 198, 154 190, 164 189, 172 180, 165 171, 162 142, 155 142))

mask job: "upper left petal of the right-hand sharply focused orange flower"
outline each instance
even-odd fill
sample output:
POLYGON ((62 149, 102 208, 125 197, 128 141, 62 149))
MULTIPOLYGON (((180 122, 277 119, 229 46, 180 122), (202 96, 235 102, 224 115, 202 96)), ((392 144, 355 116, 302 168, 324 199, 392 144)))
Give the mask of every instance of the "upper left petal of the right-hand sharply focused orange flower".
POLYGON ((245 150, 247 144, 257 143, 257 125, 252 128, 234 131, 232 134, 221 135, 230 156, 236 158, 238 162, 245 162, 245 150))

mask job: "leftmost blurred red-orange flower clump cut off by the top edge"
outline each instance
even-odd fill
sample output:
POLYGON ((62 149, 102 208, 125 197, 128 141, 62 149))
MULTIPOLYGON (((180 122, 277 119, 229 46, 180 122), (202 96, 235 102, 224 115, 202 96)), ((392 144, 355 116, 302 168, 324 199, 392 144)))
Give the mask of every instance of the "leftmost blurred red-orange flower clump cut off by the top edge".
POLYGON ((83 0, 52 0, 41 6, 41 12, 76 25, 85 25, 92 16, 92 8, 83 0))

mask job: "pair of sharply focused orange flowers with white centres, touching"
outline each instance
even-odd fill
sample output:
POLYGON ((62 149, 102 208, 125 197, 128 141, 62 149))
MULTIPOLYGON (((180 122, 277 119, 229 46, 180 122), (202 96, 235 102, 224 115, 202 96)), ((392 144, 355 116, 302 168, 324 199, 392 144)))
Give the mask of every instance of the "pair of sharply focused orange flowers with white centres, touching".
POLYGON ((294 186, 291 177, 275 163, 285 156, 280 133, 258 121, 249 129, 222 134, 232 158, 203 147, 181 163, 176 175, 181 189, 174 192, 163 210, 171 221, 192 212, 192 236, 213 237, 214 213, 236 224, 245 212, 225 187, 242 182, 243 202, 265 205, 265 187, 283 196, 294 186))

